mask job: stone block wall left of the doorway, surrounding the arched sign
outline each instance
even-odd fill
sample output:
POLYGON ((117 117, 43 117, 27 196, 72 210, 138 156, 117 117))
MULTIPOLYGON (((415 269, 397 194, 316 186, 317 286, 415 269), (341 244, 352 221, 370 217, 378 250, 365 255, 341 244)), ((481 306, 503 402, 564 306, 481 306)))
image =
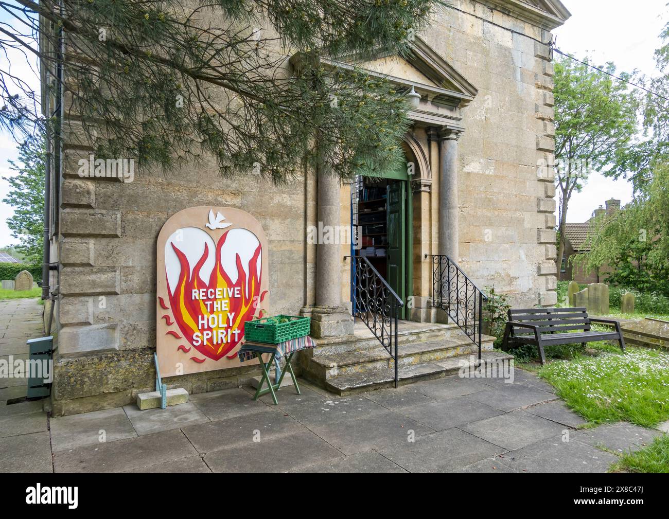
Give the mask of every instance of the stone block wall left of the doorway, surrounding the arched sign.
MULTIPOLYGON (((139 391, 152 389, 156 240, 163 223, 181 209, 230 206, 252 213, 269 239, 271 312, 297 314, 304 305, 304 174, 276 187, 252 175, 223 179, 213 163, 169 172, 135 164, 134 181, 121 183, 80 178, 77 163, 86 157, 78 146, 66 148, 55 413, 124 405, 139 391)), ((167 383, 192 393, 213 391, 240 385, 256 369, 188 375, 167 383)))

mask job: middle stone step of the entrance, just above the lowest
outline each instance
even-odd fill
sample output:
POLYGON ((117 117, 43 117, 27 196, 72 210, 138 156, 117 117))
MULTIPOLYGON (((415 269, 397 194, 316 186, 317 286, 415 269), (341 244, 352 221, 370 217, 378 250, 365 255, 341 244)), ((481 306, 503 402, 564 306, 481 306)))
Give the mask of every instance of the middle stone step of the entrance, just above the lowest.
MULTIPOLYGON (((484 336, 482 350, 492 350, 493 341, 493 337, 484 336)), ((478 346, 464 334, 454 338, 399 344, 397 350, 400 366, 432 362, 462 354, 478 354, 478 346)), ((393 367, 393 361, 387 350, 377 341, 375 348, 355 352, 324 355, 316 351, 314 356, 308 358, 306 365, 303 365, 303 373, 312 380, 324 381, 353 373, 389 369, 393 367)))

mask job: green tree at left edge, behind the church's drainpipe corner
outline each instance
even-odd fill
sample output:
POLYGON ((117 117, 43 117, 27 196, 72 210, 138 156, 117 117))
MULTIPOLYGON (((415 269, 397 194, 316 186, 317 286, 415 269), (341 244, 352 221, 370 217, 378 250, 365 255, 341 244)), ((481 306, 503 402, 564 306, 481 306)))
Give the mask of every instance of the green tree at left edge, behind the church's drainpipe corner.
MULTIPOLYGON (((42 139, 29 139, 19 146, 19 160, 9 161, 13 177, 3 177, 11 187, 3 203, 14 208, 7 227, 27 263, 41 263, 44 242, 44 171, 45 150, 42 139)), ((18 258, 17 258, 18 259, 18 258)))

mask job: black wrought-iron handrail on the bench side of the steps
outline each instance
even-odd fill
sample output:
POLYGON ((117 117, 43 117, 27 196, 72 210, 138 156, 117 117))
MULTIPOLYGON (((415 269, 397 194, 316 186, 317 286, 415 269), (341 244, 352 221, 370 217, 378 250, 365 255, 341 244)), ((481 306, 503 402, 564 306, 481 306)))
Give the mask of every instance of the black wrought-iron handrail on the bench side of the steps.
POLYGON ((481 360, 483 302, 488 296, 474 284, 458 264, 443 254, 432 257, 432 306, 441 308, 478 346, 481 360))

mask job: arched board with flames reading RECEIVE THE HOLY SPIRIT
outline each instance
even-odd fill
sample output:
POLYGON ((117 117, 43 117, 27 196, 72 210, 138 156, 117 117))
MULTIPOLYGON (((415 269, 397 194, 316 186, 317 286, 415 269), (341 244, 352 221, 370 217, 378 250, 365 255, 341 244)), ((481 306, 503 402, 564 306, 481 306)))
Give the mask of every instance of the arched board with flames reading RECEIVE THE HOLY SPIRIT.
POLYGON ((269 306, 267 237, 246 211, 191 207, 157 245, 156 350, 163 377, 240 365, 244 323, 269 306))

